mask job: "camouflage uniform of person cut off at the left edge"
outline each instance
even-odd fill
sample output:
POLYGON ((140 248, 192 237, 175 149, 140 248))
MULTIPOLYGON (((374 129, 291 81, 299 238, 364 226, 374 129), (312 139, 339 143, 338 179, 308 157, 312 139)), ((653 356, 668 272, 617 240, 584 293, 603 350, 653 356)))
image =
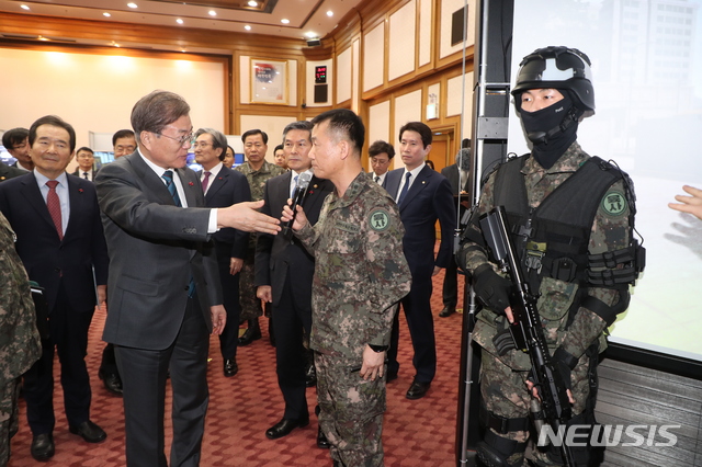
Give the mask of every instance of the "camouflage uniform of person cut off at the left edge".
POLYGON ((18 431, 20 377, 42 354, 30 280, 14 250, 14 232, 0 213, 0 466, 18 431))

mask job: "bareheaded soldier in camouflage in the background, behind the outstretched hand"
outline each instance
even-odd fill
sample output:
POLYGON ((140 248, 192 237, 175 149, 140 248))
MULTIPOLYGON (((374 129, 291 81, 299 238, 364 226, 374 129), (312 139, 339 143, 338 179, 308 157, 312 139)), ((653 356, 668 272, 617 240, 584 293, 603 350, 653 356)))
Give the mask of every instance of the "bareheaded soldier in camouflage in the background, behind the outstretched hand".
MULTIPOLYGON (((246 162, 234 170, 246 175, 251 189, 251 201, 263 200, 265 182, 273 176, 285 173, 285 170, 265 160, 268 150, 268 135, 260 129, 249 129, 241 135, 246 162)), ((239 345, 248 345, 256 339, 261 339, 259 317, 262 315, 261 300, 256 296, 254 258, 256 234, 249 236, 249 249, 244 258, 244 266, 239 275, 239 303, 241 304, 241 322, 248 321, 249 328, 239 338, 239 345)))

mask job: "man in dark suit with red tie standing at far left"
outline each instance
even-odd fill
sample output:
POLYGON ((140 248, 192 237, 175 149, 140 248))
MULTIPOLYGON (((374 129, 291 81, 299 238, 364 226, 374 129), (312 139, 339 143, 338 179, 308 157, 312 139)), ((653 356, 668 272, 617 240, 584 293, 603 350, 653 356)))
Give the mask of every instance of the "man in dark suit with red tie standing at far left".
POLYGON ((95 189, 66 173, 76 149, 72 126, 47 115, 32 124, 29 143, 34 170, 0 184, 0 210, 18 236, 16 250, 30 280, 44 287, 48 303, 49 337, 24 377, 32 456, 48 460, 55 451, 54 348, 70 432, 89 443, 106 437, 90 420, 84 356, 95 303, 105 300, 109 260, 95 189))

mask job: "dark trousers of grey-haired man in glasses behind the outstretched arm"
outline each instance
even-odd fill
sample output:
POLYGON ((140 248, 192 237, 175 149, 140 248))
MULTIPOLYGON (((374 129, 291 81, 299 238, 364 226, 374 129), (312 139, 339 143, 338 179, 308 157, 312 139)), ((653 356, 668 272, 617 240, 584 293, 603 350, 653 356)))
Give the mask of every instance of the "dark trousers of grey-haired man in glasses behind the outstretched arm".
POLYGON ((219 350, 224 360, 236 360, 237 345, 239 343, 239 317, 241 315, 241 305, 239 304, 239 277, 241 274, 229 274, 229 260, 231 257, 220 253, 220 250, 231 251, 231 244, 216 243, 216 248, 222 296, 224 308, 227 310, 227 323, 222 334, 219 334, 219 350))

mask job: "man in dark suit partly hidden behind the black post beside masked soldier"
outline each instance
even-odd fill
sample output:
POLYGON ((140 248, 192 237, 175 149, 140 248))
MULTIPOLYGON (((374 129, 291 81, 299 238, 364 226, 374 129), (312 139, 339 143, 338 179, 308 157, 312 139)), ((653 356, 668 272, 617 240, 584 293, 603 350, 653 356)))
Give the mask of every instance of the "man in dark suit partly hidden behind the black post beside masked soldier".
MULTIPOLYGON (((451 193, 453 193, 453 206, 456 208, 455 216, 463 213, 463 208, 468 207, 468 168, 471 167, 471 140, 464 139, 463 145, 467 145, 456 155, 456 162, 441 169, 441 174, 451 183, 451 193), (458 209, 458 194, 461 194, 461 204, 464 205, 458 209)), ((457 225, 457 218, 454 220, 457 225)), ((451 261, 446 266, 443 277, 443 309, 439 312, 441 318, 446 318, 456 312, 456 304, 458 301, 458 267, 456 261, 451 255, 451 261)))

